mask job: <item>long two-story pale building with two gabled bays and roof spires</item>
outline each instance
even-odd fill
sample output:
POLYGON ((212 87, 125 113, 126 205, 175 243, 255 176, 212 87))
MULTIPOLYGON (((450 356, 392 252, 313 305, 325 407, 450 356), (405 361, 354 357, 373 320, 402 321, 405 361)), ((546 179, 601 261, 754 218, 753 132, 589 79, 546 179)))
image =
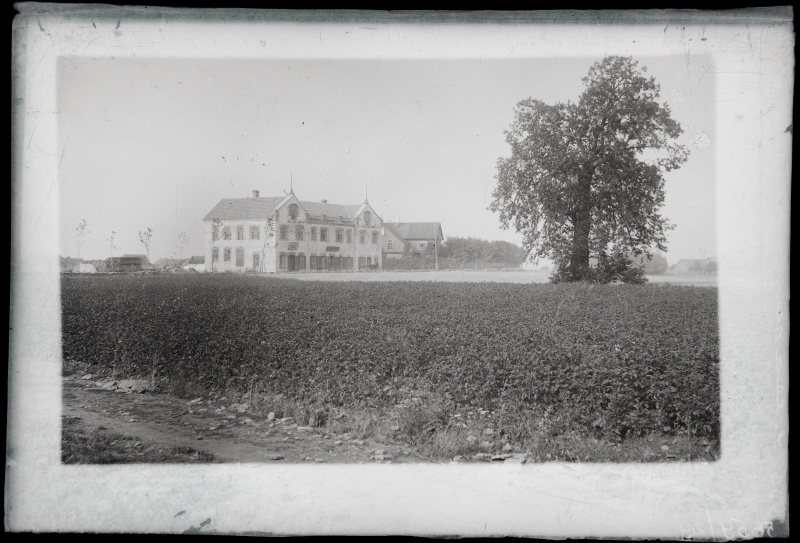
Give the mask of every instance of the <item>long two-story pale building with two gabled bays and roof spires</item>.
POLYGON ((283 197, 221 200, 203 219, 206 271, 359 271, 380 268, 381 218, 361 205, 283 197))

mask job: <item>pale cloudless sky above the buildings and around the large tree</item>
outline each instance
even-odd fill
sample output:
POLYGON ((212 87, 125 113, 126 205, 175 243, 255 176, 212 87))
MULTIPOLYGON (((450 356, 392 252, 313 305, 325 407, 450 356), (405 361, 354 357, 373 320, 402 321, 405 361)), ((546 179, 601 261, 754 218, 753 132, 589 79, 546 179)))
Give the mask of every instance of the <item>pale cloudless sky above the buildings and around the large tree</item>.
MULTIPOLYGON (((61 254, 204 254, 202 219, 222 198, 288 191, 369 201, 384 220, 440 221, 450 236, 507 240, 487 210, 503 130, 533 97, 576 100, 598 58, 212 60, 70 57, 58 65, 61 254)), ((715 254, 714 75, 707 57, 637 58, 684 128, 667 174, 670 263, 715 254)))

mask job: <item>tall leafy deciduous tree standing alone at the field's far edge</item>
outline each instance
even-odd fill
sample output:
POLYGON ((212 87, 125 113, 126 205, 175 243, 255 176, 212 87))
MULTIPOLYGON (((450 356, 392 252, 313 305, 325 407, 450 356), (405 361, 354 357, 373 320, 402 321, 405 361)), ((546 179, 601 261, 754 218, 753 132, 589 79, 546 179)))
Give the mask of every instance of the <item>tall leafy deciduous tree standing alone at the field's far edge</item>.
POLYGON ((523 234, 531 255, 558 265, 554 281, 640 279, 630 256, 666 251, 663 174, 688 151, 674 141, 681 127, 646 71, 632 58, 606 57, 583 78, 577 103, 517 104, 490 209, 523 234))

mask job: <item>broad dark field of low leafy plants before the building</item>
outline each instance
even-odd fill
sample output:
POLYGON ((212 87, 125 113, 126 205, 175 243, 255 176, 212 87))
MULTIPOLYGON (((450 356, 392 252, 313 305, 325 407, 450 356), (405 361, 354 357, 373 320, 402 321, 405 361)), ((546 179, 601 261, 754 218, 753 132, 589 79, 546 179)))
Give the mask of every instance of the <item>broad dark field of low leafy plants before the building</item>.
POLYGON ((64 276, 62 305, 72 366, 303 423, 378 413, 413 443, 464 438, 449 453, 480 447, 475 428, 515 448, 653 432, 718 447, 716 288, 64 276))

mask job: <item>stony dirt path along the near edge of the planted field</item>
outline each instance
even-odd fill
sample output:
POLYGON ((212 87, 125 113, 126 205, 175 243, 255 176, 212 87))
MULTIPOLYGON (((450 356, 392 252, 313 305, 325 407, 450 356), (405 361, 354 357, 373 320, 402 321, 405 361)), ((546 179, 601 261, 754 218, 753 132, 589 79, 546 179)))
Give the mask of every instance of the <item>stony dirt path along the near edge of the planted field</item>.
POLYGON ((223 404, 190 402, 166 394, 122 393, 76 376, 62 379, 63 416, 87 427, 104 427, 145 443, 191 447, 222 462, 431 462, 408 447, 332 435, 269 421, 223 404))

